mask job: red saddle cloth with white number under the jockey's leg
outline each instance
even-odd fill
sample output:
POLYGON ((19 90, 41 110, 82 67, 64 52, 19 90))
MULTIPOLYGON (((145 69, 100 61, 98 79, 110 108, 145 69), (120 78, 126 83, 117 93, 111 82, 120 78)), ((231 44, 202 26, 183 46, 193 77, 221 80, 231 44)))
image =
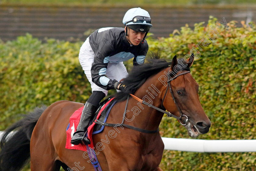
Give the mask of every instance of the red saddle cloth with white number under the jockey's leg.
MULTIPOLYGON (((110 99, 99 111, 97 119, 100 117, 101 112, 108 106, 108 104, 113 100, 114 98, 110 99)), ((75 149, 75 150, 82 150, 82 151, 87 151, 86 145, 84 144, 79 144, 79 145, 73 145, 70 143, 72 136, 74 134, 74 132, 76 132, 76 127, 79 124, 80 118, 81 118, 81 114, 83 111, 84 107, 79 108, 78 110, 76 110, 73 115, 70 117, 69 119, 69 126, 67 127, 66 133, 67 133, 67 140, 66 140, 66 149, 75 149)), ((88 146, 93 149, 93 142, 92 142, 92 132, 93 132, 93 127, 94 127, 95 123, 93 122, 92 125, 90 125, 88 127, 88 138, 91 141, 91 144, 89 144, 88 146)))

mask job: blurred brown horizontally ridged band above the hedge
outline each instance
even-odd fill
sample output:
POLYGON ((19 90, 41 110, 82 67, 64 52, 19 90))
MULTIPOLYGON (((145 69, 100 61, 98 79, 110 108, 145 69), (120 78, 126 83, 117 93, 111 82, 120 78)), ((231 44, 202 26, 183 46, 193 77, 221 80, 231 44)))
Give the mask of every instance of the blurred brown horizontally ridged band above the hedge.
MULTIPOLYGON (((0 39, 12 40, 27 32, 39 39, 81 39, 85 32, 102 27, 124 27, 123 16, 132 7, 117 6, 33 6, 0 5, 0 39)), ((141 7, 152 18, 150 32, 154 37, 168 37, 174 29, 187 23, 205 22, 213 15, 218 21, 244 20, 256 22, 256 7, 240 6, 190 6, 190 7, 141 7)), ((241 24, 240 24, 241 25, 241 24)))

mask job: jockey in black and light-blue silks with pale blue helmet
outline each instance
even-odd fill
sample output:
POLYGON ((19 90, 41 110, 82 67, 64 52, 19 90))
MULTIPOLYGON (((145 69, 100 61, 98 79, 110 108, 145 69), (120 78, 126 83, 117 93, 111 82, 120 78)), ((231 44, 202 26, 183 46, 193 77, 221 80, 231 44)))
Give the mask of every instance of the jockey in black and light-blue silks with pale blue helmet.
POLYGON ((144 63, 148 52, 145 40, 152 27, 147 11, 141 8, 129 9, 123 18, 125 28, 101 28, 86 39, 79 53, 79 61, 91 83, 92 94, 84 105, 79 125, 73 134, 74 145, 90 144, 85 131, 100 101, 108 90, 124 91, 120 82, 128 75, 123 61, 133 58, 133 65, 144 63))

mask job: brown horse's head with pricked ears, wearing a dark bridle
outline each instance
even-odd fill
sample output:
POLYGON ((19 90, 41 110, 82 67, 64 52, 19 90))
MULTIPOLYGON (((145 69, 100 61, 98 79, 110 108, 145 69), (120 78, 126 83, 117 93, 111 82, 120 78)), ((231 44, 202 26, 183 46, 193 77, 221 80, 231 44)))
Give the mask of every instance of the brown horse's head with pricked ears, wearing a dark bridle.
POLYGON ((209 131, 211 121, 204 113, 199 101, 198 84, 188 72, 193 61, 193 54, 185 63, 180 63, 180 61, 178 63, 176 56, 173 57, 171 67, 164 70, 169 78, 162 92, 165 92, 166 86, 168 90, 166 94, 162 93, 161 97, 162 104, 167 111, 177 117, 183 115, 179 122, 187 129, 188 135, 197 137, 209 131))

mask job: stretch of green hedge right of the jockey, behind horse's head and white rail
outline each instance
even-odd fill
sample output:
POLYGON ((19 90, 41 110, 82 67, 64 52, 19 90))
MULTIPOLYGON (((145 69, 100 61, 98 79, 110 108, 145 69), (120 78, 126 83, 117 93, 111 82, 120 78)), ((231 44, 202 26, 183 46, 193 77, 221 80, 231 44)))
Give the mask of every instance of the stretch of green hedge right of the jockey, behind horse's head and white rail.
MULTIPOLYGON (((151 50, 162 48, 162 55, 184 57, 202 38, 212 31, 217 21, 210 17, 208 25, 195 24, 194 30, 185 26, 175 30, 169 38, 150 40, 151 50), (178 35, 177 35, 178 34, 178 35)), ((227 21, 228 22, 228 21, 227 21)), ((256 26, 229 29, 216 34, 215 43, 200 47, 201 57, 194 61, 191 74, 199 84, 199 97, 212 122, 210 131, 199 139, 256 139, 256 26)), ((198 50, 198 48, 196 47, 198 50)), ((164 117, 161 135, 171 138, 188 138, 186 130, 164 117)), ((161 166, 165 170, 255 170, 256 153, 196 153, 165 151, 161 166)))

